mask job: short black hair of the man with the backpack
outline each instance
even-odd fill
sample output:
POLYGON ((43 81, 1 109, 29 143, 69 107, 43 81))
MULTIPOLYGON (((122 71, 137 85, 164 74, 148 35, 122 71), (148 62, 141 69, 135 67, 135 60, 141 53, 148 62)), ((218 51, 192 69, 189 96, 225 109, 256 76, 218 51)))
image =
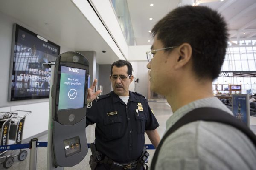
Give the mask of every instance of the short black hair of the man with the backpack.
POLYGON ((214 80, 220 74, 228 33, 224 18, 216 11, 205 6, 175 8, 158 21, 152 35, 163 43, 163 48, 189 43, 193 70, 199 79, 214 80))

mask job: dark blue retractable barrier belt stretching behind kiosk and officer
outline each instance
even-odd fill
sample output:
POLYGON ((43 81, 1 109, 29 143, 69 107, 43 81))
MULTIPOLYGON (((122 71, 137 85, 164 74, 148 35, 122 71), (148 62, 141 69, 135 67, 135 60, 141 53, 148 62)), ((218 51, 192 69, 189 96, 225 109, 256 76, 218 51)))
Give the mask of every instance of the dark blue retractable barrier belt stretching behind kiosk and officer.
MULTIPOLYGON (((87 144, 87 145, 88 145, 88 148, 90 148, 90 144, 87 144)), ((37 142, 36 146, 37 147, 47 147, 48 142, 37 142)), ((31 143, 3 145, 3 146, 0 146, 0 151, 26 149, 26 148, 31 149, 31 143)), ((154 148, 153 144, 146 144, 146 149, 155 149, 155 148, 154 148)))

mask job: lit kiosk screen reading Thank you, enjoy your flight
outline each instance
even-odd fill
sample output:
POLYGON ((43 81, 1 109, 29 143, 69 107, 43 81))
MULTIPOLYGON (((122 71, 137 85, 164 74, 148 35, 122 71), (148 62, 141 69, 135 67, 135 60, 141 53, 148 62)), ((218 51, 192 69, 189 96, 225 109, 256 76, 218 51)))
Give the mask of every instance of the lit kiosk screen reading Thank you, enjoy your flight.
POLYGON ((85 79, 86 70, 61 65, 58 110, 84 108, 85 79))

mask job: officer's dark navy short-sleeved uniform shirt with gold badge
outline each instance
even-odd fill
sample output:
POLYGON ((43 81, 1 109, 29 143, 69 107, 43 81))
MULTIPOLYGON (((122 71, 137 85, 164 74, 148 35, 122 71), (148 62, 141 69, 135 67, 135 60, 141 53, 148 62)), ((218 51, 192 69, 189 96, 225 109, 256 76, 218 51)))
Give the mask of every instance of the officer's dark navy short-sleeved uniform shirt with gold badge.
POLYGON ((86 127, 96 123, 97 150, 118 163, 139 159, 145 130, 159 126, 145 97, 131 91, 129 95, 127 105, 113 91, 87 105, 86 127))

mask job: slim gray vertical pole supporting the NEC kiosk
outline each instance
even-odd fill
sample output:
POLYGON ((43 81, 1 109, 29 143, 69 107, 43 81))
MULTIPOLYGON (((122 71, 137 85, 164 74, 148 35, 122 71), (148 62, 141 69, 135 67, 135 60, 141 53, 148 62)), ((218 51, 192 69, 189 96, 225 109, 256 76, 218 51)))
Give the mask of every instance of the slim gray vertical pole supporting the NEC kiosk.
POLYGON ((47 170, 63 170, 63 167, 55 167, 52 153, 52 85, 54 82, 55 62, 51 62, 51 82, 49 97, 49 124, 48 124, 48 145, 47 145, 47 170))

